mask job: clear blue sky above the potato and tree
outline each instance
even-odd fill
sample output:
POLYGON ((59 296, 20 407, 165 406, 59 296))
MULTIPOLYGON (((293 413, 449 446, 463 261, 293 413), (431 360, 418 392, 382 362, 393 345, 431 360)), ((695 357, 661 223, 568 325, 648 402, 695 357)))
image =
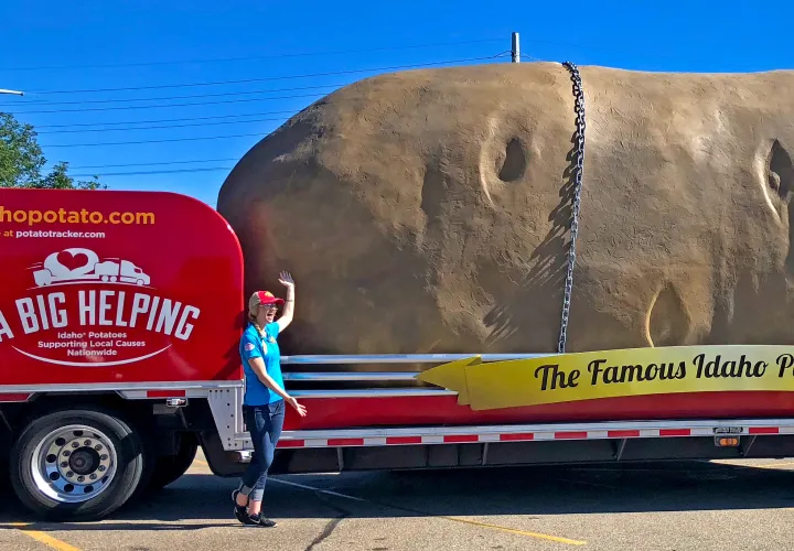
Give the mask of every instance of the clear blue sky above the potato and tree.
POLYGON ((792 68, 793 17, 781 0, 3 0, 0 88, 26 95, 0 95, 0 110, 34 125, 47 160, 67 161, 72 174, 215 206, 228 170, 257 141, 322 95, 386 67, 483 63, 449 62, 505 52, 516 31, 522 53, 544 61, 792 68), (195 86, 218 82, 227 84, 195 86), (146 174, 114 175, 130 172, 146 174))

